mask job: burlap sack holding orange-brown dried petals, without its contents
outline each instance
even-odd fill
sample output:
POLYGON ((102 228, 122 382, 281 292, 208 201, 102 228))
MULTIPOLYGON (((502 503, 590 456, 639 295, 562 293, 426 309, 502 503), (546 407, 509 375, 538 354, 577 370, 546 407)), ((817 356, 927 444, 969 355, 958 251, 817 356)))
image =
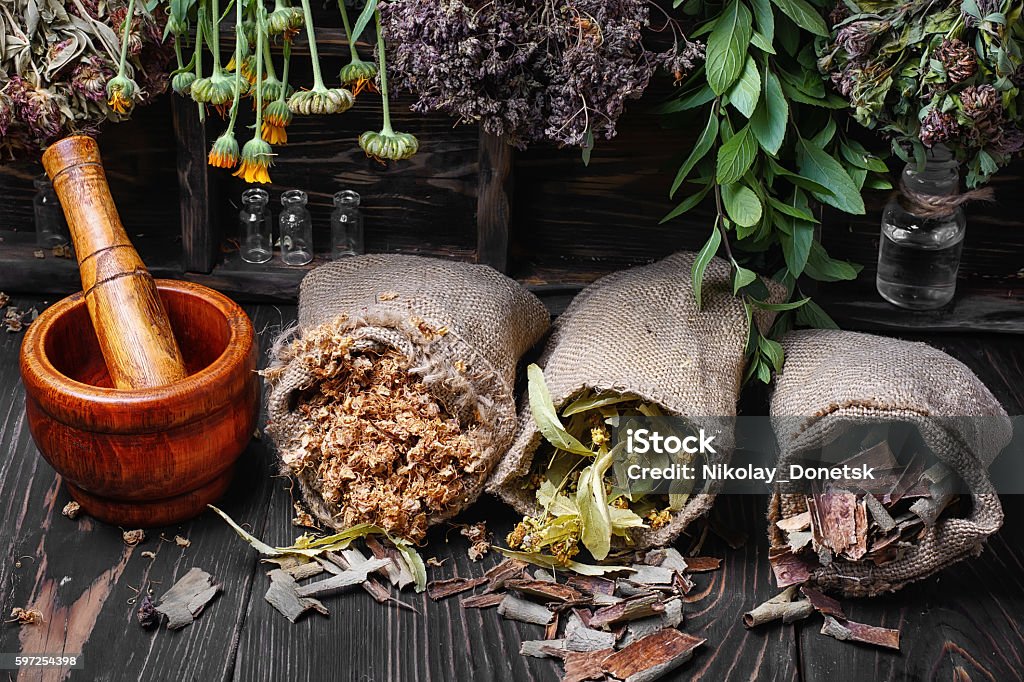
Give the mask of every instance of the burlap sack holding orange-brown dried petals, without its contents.
MULTIPOLYGON (((268 374, 267 431, 282 454, 302 446, 293 396, 309 387, 311 376, 289 357, 288 340, 295 334, 331 325, 356 344, 398 350, 460 424, 475 425, 478 460, 467 467, 472 481, 461 506, 428 519, 439 522, 472 504, 511 442, 516 364, 549 324, 536 296, 485 265, 394 254, 323 265, 302 281, 298 327, 272 351, 279 367, 268 374)), ((336 526, 314 481, 297 478, 310 511, 336 526)))

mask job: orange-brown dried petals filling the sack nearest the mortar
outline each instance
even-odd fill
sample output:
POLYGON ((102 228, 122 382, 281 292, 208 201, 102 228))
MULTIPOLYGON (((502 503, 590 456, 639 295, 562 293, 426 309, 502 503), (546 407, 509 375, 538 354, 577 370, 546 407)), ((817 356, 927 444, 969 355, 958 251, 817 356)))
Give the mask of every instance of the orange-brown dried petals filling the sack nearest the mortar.
POLYGON ((394 349, 356 344, 335 328, 292 343, 295 356, 317 365, 296 396, 304 432, 282 452, 284 463, 316 481, 313 493, 339 526, 372 523, 420 541, 428 517, 465 494, 479 459, 472 425, 450 415, 394 349))

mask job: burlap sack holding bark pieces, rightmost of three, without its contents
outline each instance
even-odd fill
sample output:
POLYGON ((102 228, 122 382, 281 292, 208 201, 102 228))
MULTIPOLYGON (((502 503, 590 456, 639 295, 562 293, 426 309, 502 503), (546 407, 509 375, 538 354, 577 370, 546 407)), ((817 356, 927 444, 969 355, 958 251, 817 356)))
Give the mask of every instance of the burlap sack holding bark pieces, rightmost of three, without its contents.
MULTIPOLYGON (((772 417, 779 467, 835 439, 851 425, 899 420, 914 424, 936 457, 972 492, 967 518, 946 518, 903 557, 872 562, 836 559, 816 569, 813 583, 848 596, 895 591, 981 552, 1002 523, 1002 508, 987 469, 1012 437, 1006 412, 971 370, 924 343, 835 330, 793 332, 783 339, 785 365, 775 380, 772 417), (971 421, 966 416, 989 417, 971 421), (961 418, 961 419, 955 419, 961 418)), ((769 503, 773 547, 785 545, 775 521, 806 511, 803 496, 769 503)))

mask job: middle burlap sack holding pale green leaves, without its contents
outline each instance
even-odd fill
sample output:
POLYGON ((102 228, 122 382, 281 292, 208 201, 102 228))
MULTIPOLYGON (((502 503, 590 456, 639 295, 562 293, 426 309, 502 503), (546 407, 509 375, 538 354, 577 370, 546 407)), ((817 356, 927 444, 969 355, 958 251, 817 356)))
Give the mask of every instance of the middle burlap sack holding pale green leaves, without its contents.
MULTIPOLYGON (((595 282, 555 322, 538 364, 556 409, 586 389, 631 393, 715 433, 717 457, 709 464, 724 463, 734 447, 732 418, 749 329, 743 304, 732 295, 729 264, 719 258, 708 266, 697 310, 694 258, 677 253, 595 282)), ((780 288, 770 286, 777 300, 780 288)), ((758 313, 756 321, 764 329, 772 317, 758 313)), ((542 436, 528 401, 523 403, 515 442, 487 489, 531 515, 540 505, 522 483, 542 436)), ((640 548, 668 544, 711 508, 719 487, 706 482, 668 524, 636 528, 631 539, 640 548)))

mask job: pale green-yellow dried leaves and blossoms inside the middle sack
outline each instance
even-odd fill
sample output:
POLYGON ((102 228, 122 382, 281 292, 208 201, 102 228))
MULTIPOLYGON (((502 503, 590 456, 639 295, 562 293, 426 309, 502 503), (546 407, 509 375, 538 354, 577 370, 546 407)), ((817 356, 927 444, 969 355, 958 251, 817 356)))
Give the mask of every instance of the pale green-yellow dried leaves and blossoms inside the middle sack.
MULTIPOLYGON (((534 456, 525 485, 536 489, 543 512, 525 517, 509 534, 509 547, 556 565, 579 567, 581 545, 598 561, 611 552, 612 538, 630 543, 630 530, 660 527, 683 508, 686 492, 639 495, 615 489, 609 472, 622 463, 624 446, 610 446, 611 428, 630 417, 663 416, 657 406, 617 393, 587 390, 559 418, 544 382, 529 366, 529 407, 545 442, 534 456)), ((689 464, 690 462, 686 462, 689 464)))

